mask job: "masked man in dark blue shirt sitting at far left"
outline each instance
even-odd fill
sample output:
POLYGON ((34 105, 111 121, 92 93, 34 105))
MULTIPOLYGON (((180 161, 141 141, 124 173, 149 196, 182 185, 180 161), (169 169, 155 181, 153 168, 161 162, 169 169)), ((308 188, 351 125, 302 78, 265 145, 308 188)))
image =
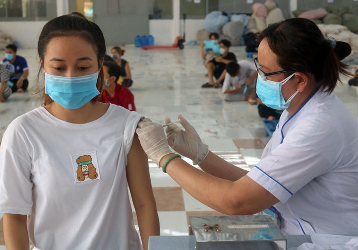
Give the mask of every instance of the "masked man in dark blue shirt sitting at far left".
POLYGON ((12 92, 24 92, 29 86, 27 77, 29 76, 29 67, 26 59, 16 55, 17 47, 14 44, 8 44, 5 47, 5 59, 1 64, 5 65, 10 72, 10 82, 12 92))

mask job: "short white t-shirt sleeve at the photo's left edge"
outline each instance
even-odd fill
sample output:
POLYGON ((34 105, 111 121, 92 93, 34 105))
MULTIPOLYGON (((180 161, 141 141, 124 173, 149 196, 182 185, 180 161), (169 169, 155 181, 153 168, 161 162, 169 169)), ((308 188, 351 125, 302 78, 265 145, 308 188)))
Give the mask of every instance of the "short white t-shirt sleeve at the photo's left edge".
MULTIPOLYGON (((16 123, 16 122, 15 122, 16 123)), ((32 161, 21 127, 8 126, 0 146, 0 213, 29 215, 32 210, 32 161)))

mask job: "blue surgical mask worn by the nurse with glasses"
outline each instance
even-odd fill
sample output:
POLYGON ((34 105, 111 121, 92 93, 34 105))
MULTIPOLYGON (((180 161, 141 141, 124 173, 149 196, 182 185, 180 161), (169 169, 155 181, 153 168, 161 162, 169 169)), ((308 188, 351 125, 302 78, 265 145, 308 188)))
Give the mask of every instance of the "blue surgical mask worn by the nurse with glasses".
POLYGON ((256 94, 261 99, 262 103, 265 104, 267 107, 276 110, 284 110, 290 106, 291 100, 298 94, 296 91, 287 101, 282 95, 281 87, 284 85, 288 80, 290 80, 295 73, 287 77, 286 79, 282 80, 281 82, 264 81, 260 74, 257 76, 256 82, 256 94))

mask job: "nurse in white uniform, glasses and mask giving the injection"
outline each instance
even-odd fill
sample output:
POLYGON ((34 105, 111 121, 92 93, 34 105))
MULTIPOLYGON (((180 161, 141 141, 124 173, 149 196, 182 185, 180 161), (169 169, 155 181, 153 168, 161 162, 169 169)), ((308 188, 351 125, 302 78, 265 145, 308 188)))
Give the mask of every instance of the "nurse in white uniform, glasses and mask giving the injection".
POLYGON ((252 170, 209 151, 181 116, 185 130, 169 125, 168 138, 161 125, 141 122, 143 149, 194 198, 222 213, 249 215, 274 206, 284 234, 357 234, 358 123, 332 93, 340 74, 350 74, 340 60, 351 47, 325 38, 303 18, 272 24, 257 39, 257 95, 284 112, 252 170))

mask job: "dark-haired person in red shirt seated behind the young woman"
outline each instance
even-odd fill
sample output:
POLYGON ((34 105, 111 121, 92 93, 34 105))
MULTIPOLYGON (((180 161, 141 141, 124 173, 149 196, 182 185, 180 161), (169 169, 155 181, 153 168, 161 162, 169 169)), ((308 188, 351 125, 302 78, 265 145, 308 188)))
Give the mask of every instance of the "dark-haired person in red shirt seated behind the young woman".
POLYGON ((116 62, 103 62, 103 74, 105 83, 103 85, 104 89, 99 98, 99 101, 103 103, 112 103, 122 106, 127 110, 135 111, 134 95, 128 88, 117 84, 121 71, 121 68, 116 62))

